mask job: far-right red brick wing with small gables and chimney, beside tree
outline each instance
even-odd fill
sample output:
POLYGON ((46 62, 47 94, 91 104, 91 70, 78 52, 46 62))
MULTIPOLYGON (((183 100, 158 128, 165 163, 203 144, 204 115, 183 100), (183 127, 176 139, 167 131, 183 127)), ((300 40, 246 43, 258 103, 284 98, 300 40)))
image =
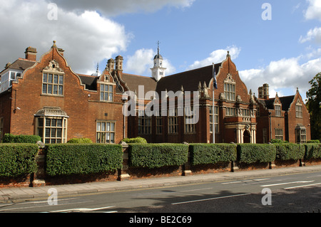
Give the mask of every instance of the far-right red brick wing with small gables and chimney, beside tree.
POLYGON ((270 139, 306 142, 311 139, 310 115, 297 89, 295 95, 270 98, 268 85, 259 88, 258 143, 270 139))

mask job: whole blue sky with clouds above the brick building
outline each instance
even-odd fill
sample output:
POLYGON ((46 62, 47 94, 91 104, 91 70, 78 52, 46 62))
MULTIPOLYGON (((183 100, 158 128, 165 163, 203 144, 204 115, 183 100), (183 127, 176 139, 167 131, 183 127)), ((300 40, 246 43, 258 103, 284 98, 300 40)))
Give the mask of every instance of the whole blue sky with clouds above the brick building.
POLYGON ((272 97, 299 88, 305 99, 321 72, 321 0, 53 2, 57 18, 49 20, 50 1, 0 0, 2 65, 23 58, 28 46, 40 58, 56 40, 76 73, 94 72, 97 62, 102 71, 121 55, 126 73, 151 76, 160 41, 167 75, 220 62, 230 51, 248 89, 269 83, 272 97), (262 18, 264 3, 271 20, 262 18))

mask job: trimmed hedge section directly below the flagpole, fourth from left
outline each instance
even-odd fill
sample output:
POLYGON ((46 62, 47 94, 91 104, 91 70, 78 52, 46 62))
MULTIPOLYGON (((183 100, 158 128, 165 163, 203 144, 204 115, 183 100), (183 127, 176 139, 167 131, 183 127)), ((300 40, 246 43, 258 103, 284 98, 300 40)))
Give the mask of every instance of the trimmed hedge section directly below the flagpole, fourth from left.
POLYGON ((190 162, 192 165, 233 162, 236 147, 236 144, 190 144, 190 162))

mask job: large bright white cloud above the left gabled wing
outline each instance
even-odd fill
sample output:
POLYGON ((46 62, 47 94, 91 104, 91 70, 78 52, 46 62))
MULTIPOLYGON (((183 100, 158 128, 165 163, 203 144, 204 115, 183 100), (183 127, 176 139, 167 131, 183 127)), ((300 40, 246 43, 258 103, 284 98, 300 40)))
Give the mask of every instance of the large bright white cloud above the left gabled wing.
POLYGON ((0 0, 0 5, 0 21, 6 21, 0 24, 0 30, 6 31, 0 36, 0 42, 6 43, 0 52, 1 65, 24 58, 28 46, 37 48, 40 58, 55 40, 76 73, 93 72, 99 61, 126 51, 130 41, 121 24, 96 11, 75 14, 58 8, 58 19, 49 20, 50 9, 44 0, 0 0))

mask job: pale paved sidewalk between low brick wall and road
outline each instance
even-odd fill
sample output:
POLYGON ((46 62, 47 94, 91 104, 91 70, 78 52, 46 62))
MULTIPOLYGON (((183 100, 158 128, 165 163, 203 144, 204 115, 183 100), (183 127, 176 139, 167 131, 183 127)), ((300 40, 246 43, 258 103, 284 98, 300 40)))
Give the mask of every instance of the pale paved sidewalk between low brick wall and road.
POLYGON ((121 191, 131 189, 147 189, 161 186, 178 186, 202 182, 230 181, 236 179, 277 176, 282 174, 321 171, 321 165, 310 167, 287 167, 280 169, 261 169, 251 171, 223 172, 216 174, 196 174, 191 176, 173 176, 153 179, 133 179, 127 181, 93 182, 86 184, 67 184, 56 186, 40 186, 34 188, 0 189, 0 203, 7 201, 25 201, 30 199, 47 199, 48 190, 54 188, 58 195, 77 195, 95 192, 121 191))

